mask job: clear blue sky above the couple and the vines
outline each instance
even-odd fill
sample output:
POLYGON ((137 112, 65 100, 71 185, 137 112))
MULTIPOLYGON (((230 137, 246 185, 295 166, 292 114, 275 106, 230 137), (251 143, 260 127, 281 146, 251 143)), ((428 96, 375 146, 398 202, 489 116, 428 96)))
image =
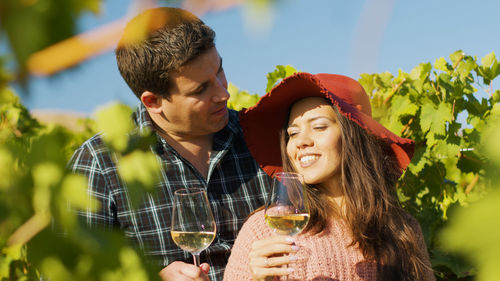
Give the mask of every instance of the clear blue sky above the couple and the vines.
MULTIPOLYGON (((100 15, 82 17, 81 30, 123 17, 128 3, 104 1, 100 15)), ((498 0, 281 0, 263 30, 252 28, 261 16, 248 24, 243 7, 201 18, 217 33, 228 81, 262 95, 266 74, 278 64, 357 79, 360 73, 409 72, 458 49, 478 58, 500 56, 498 11, 498 0)), ((112 52, 54 77, 35 78, 29 87, 30 95, 22 97, 29 109, 91 114, 111 101, 138 102, 112 52)))

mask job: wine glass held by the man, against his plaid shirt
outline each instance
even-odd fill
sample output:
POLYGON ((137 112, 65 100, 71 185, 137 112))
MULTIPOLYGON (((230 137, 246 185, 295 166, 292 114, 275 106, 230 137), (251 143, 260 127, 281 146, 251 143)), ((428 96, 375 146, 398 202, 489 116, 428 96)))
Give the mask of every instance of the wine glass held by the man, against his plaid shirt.
POLYGON ((193 255, 194 265, 200 266, 200 253, 214 241, 215 233, 215 220, 205 190, 176 190, 170 234, 177 246, 193 255))

